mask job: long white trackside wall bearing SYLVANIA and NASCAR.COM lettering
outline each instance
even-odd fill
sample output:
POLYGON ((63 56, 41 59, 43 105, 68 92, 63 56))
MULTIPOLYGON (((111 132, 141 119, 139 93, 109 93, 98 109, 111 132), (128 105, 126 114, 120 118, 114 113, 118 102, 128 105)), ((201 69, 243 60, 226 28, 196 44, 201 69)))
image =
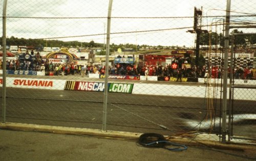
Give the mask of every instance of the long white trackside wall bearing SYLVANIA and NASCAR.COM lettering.
MULTIPOLYGON (((103 92, 103 79, 95 81, 66 81, 60 79, 37 79, 37 78, 15 78, 7 77, 7 87, 27 88, 27 89, 48 89, 48 90, 72 90, 72 91, 93 91, 103 92)), ((0 79, 0 86, 3 85, 3 79, 0 79)), ((255 89, 235 89, 234 99, 256 100, 255 89), (251 93, 244 95, 244 93, 251 93), (254 94, 253 94, 254 93, 254 94)), ((162 96, 180 96, 180 97, 199 97, 199 98, 220 98, 221 87, 206 87, 204 84, 180 85, 174 84, 153 84, 150 81, 138 83, 109 83, 108 91, 115 93, 143 94, 143 95, 162 95, 162 96)), ((227 90, 227 96, 229 90, 227 90)))

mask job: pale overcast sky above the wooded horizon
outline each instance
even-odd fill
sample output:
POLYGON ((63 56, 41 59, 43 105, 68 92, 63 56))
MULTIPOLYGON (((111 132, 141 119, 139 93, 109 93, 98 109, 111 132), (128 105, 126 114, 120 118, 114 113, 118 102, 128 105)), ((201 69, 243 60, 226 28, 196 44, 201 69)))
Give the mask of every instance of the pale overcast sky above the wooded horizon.
MULTIPOLYGON (((32 39, 71 37, 59 40, 82 42, 94 40, 95 42, 103 43, 105 42, 103 34, 106 33, 105 17, 108 15, 108 5, 108 0, 9 0, 7 3, 7 16, 9 17, 7 18, 7 36, 32 39), (56 18, 53 19, 53 17, 56 18)), ((113 0, 112 17, 120 18, 111 19, 111 33, 123 34, 112 34, 111 43, 194 46, 195 34, 186 32, 187 30, 192 30, 192 28, 178 30, 178 28, 193 26, 194 18, 191 16, 194 15, 194 7, 198 9, 203 7, 203 16, 208 16, 202 18, 202 25, 222 23, 224 18, 222 16, 226 14, 226 1, 224 0, 113 0), (133 33, 139 31, 154 32, 133 33), (124 32, 131 33, 124 34, 124 32)), ((250 22, 255 25, 255 16, 244 17, 244 15, 255 15, 255 8, 255 1, 231 1, 231 15, 242 16, 232 17, 231 20, 250 22)), ((3 0, 0 3, 1 15, 2 11, 3 0)), ((0 34, 2 35, 2 20, 0 24, 0 34)), ((209 27, 203 27, 202 29, 210 30, 209 27)), ((222 25, 217 26, 217 28, 212 27, 211 30, 220 33, 222 32, 222 25)), ((240 30, 255 32, 255 29, 240 30)))

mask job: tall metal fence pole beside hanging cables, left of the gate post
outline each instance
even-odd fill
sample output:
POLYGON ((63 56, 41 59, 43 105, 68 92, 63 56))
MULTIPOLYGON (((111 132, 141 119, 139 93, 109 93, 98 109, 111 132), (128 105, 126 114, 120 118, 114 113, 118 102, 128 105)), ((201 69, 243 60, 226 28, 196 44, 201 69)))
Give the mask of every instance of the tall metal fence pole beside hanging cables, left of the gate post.
POLYGON ((228 49, 229 49, 229 22, 230 22, 230 5, 231 0, 227 0, 226 7, 226 25, 225 25, 225 52, 224 52, 224 74, 223 74, 223 99, 222 99, 222 143, 226 143, 226 124, 227 124, 227 67, 228 67, 228 49))

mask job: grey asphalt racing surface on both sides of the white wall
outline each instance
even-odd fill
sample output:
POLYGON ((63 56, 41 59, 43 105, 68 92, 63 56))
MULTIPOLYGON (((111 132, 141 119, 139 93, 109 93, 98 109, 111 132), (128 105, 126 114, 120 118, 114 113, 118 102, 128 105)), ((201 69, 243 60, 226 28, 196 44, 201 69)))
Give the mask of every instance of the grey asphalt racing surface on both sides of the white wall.
MULTIPOLYGON (((77 75, 26 75, 26 77, 91 82, 104 81, 104 79, 77 75)), ((109 82, 120 81, 109 79, 109 82)), ((130 80, 122 80, 121 82, 147 83, 130 80)), ((203 86, 203 84, 187 82, 150 83, 203 86)), ((101 129, 103 97, 103 92, 7 88, 6 121, 101 129)), ((0 101, 2 103, 2 99, 0 101)), ((214 104, 211 109, 209 109, 207 101, 209 100, 194 97, 109 93, 106 129, 141 133, 155 132, 162 135, 174 135, 175 133, 198 129, 201 132, 219 133, 220 100, 211 100, 214 104), (212 114, 209 115, 209 112, 212 114), (212 116, 215 117, 210 120, 212 116), (211 128, 209 129, 209 127, 211 128)), ((234 135, 255 137, 256 128, 252 128, 255 127, 255 116, 253 114, 256 112, 254 107, 255 101, 236 101, 236 109, 243 110, 234 110, 235 116, 244 118, 246 115, 252 114, 252 118, 248 120, 237 119, 236 122, 233 122, 234 135), (244 108, 245 104, 246 108, 244 108)), ((2 113, 2 106, 0 113, 2 113)))

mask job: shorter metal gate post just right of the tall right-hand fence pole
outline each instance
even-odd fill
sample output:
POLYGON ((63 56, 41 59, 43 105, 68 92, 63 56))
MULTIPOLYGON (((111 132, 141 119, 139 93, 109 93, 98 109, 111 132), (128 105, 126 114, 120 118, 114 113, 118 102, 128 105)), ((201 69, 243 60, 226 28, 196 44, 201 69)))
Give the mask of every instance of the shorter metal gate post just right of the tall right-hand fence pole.
POLYGON ((228 142, 231 136, 231 104, 232 104, 232 81, 233 81, 233 53, 234 53, 234 31, 232 31, 231 39, 231 56, 230 56, 230 73, 229 73, 229 98, 228 98, 228 142))

